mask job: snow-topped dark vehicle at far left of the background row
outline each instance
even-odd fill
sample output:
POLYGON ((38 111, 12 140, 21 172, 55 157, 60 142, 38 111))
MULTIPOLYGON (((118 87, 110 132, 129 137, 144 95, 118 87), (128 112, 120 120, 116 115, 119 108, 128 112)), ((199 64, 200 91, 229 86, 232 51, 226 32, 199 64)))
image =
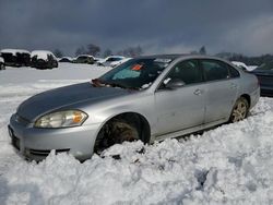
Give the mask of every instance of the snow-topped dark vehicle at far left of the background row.
POLYGON ((22 49, 2 49, 1 57, 8 67, 29 67, 31 52, 22 49))

